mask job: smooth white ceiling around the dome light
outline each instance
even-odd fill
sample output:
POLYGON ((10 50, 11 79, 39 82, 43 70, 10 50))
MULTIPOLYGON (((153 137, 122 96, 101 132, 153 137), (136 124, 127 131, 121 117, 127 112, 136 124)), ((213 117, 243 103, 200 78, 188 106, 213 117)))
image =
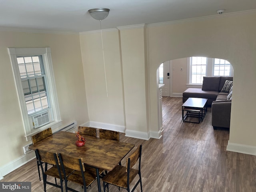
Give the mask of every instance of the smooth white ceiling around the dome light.
POLYGON ((86 32, 100 29, 88 13, 109 8, 102 29, 154 24, 256 9, 256 0, 0 0, 0 30, 86 32))

